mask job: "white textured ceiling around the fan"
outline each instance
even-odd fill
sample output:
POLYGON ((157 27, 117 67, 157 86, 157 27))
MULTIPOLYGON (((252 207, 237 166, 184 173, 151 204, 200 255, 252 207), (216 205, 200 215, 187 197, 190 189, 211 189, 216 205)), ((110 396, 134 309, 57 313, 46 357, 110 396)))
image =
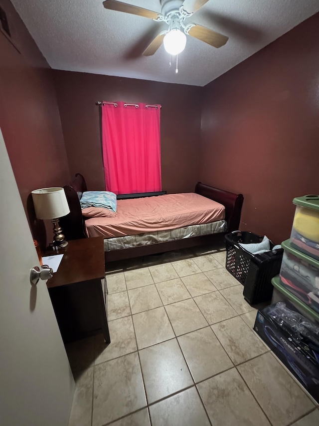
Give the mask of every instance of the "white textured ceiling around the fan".
MULTIPOLYGON (((165 23, 102 0, 11 0, 55 69, 204 86, 319 11, 318 0, 210 0, 188 19, 228 35, 216 49, 187 36, 178 74, 164 47, 142 52, 165 23)), ((160 0, 123 0, 160 12, 160 0)))

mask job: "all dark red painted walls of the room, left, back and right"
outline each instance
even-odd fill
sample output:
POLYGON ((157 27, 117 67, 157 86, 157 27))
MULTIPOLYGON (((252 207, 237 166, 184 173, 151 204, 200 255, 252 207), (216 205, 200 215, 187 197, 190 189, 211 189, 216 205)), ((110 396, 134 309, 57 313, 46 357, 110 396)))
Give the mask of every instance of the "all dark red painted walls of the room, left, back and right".
POLYGON ((242 192, 241 229, 289 237, 292 199, 319 192, 319 14, 201 88, 52 71, 1 4, 21 53, 0 33, 0 127, 24 205, 70 173, 104 189, 96 101, 160 103, 163 189, 190 191, 200 179, 242 192))

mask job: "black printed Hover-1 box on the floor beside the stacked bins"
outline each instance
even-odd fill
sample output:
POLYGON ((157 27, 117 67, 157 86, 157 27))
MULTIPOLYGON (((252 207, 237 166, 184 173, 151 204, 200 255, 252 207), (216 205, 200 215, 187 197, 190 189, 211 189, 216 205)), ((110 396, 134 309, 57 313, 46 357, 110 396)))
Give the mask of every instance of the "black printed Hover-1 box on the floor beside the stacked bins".
POLYGON ((272 352, 319 402, 319 362, 310 356, 311 349, 294 336, 275 324, 268 315, 269 307, 258 311, 254 330, 270 347, 272 352))

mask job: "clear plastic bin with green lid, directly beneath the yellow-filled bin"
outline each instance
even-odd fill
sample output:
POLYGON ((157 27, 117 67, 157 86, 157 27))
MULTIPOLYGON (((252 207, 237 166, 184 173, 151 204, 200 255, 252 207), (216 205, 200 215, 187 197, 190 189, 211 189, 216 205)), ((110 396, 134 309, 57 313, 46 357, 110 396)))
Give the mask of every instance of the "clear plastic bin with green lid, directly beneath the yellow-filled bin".
POLYGON ((312 309, 319 312, 319 261, 292 247, 290 240, 282 243, 283 262, 280 282, 312 309))

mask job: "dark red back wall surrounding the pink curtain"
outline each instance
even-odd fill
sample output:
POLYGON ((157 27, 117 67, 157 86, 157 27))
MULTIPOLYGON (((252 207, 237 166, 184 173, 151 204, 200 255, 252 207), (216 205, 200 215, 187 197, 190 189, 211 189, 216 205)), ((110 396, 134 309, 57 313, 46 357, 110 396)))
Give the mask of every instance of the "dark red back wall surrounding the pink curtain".
POLYGON ((54 71, 70 172, 104 190, 99 100, 160 103, 162 188, 192 191, 198 178, 201 88, 132 78, 54 71))

